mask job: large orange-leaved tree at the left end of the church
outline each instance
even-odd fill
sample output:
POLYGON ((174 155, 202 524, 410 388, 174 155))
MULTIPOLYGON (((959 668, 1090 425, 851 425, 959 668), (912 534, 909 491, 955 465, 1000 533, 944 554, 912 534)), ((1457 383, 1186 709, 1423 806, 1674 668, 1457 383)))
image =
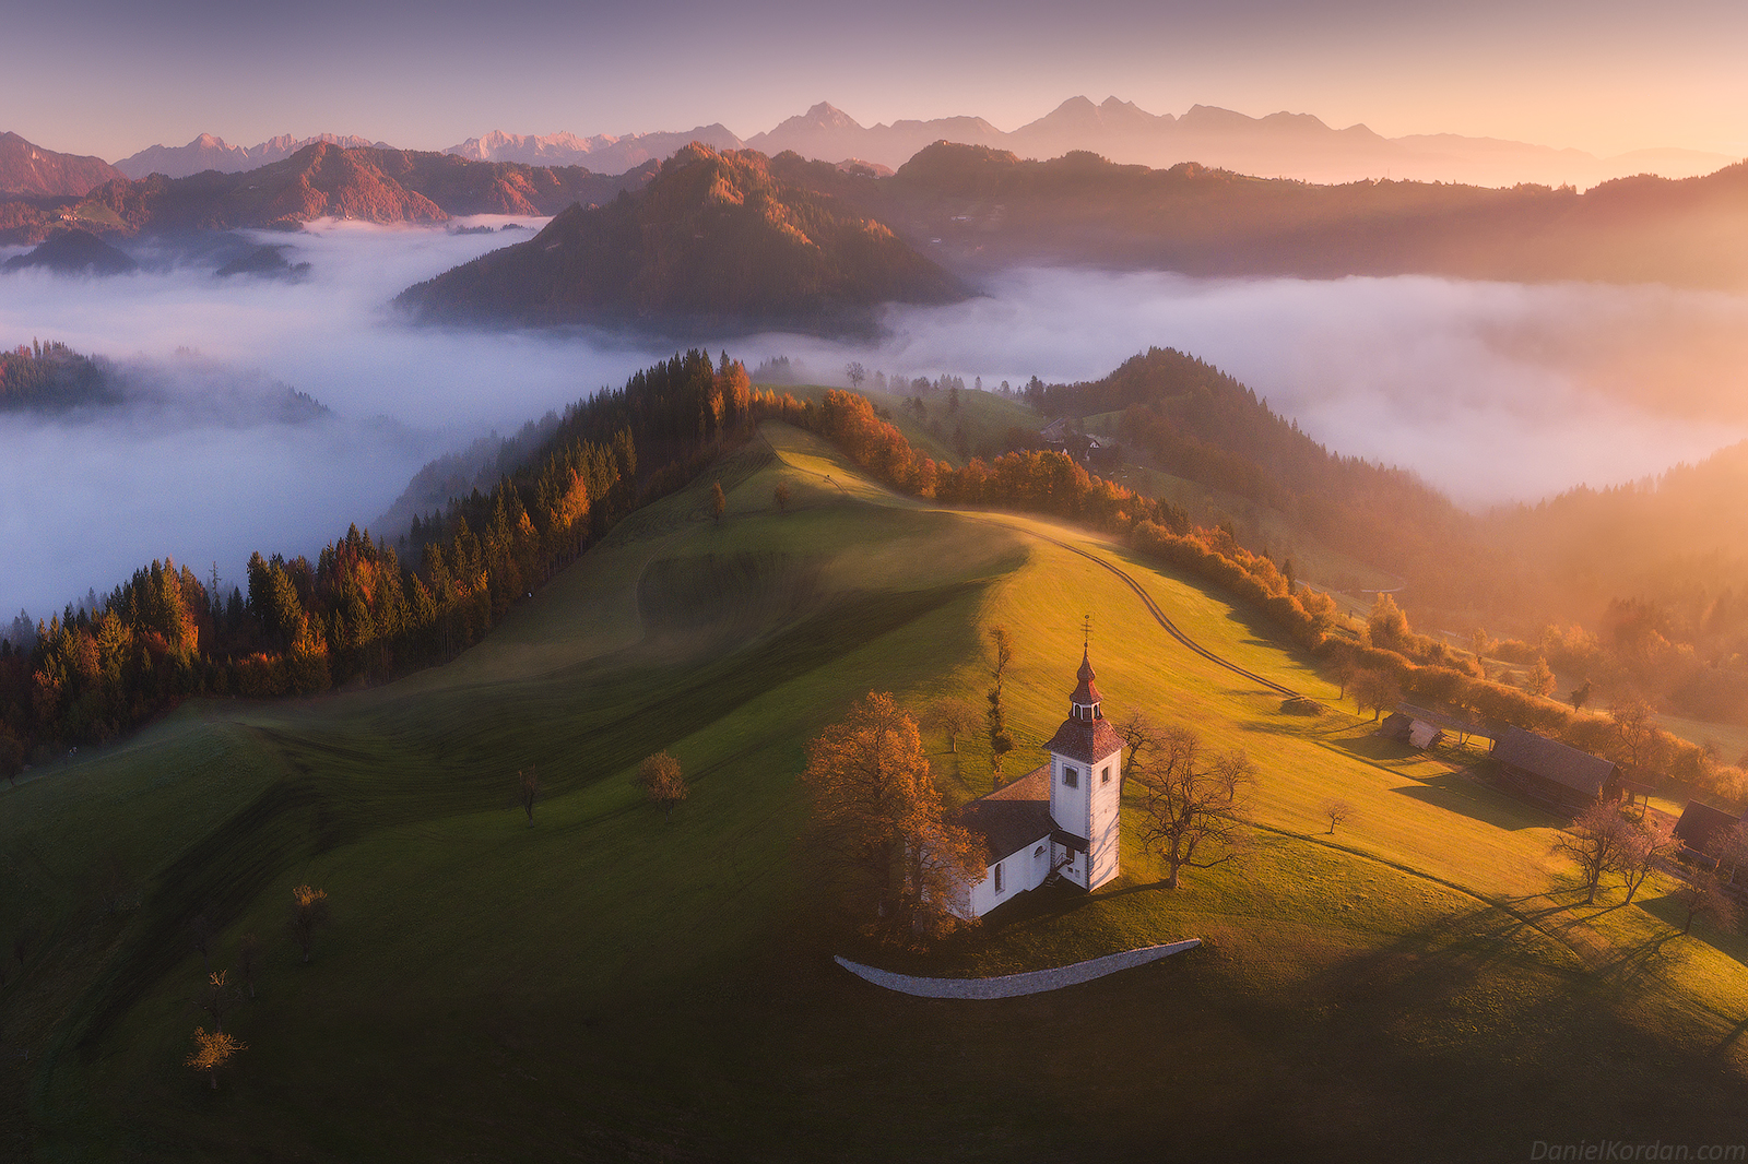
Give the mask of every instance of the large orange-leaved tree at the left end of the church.
POLYGON ((813 835, 843 877, 851 909, 890 939, 939 935, 982 846, 947 820, 916 720, 886 692, 858 699, 808 745, 813 835))

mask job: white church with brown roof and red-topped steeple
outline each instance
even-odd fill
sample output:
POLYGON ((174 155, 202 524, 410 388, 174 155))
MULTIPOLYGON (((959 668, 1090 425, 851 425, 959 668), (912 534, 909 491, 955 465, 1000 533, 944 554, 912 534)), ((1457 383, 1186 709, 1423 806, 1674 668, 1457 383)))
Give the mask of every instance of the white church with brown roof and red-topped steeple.
POLYGON ((982 881, 954 902, 961 918, 982 918, 1052 876, 1096 890, 1122 872, 1122 736, 1099 710, 1086 654, 1079 678, 1068 718, 1045 745, 1051 762, 960 809, 988 860, 982 881))

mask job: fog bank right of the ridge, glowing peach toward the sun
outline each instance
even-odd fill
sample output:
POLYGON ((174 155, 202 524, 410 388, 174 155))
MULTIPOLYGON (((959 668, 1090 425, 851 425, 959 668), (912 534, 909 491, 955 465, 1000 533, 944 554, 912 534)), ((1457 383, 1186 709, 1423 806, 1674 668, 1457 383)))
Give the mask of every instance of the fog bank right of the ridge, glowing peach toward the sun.
MULTIPOLYGON (((1328 447, 1463 505, 1634 481, 1748 433, 1748 299, 1440 278, 1197 280, 1026 269, 897 309, 851 358, 984 385, 1098 379, 1147 346, 1231 372, 1328 447)), ((760 339, 755 348, 776 350, 760 339)), ((830 346, 787 341, 809 369, 830 346)))

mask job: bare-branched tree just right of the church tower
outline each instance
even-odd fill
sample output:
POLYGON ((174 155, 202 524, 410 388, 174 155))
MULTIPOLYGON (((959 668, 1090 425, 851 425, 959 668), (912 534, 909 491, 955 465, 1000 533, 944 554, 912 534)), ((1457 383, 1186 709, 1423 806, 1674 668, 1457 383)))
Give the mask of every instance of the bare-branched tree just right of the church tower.
POLYGON ((1241 748, 1206 753, 1187 727, 1168 727, 1136 766, 1141 795, 1141 844, 1166 865, 1168 890, 1178 874, 1234 860, 1246 837, 1245 793, 1257 769, 1241 748))

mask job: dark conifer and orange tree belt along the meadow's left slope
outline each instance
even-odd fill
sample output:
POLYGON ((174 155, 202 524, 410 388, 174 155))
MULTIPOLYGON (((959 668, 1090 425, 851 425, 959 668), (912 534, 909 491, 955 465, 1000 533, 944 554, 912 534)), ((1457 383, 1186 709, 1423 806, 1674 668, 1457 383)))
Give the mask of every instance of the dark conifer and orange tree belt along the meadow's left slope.
POLYGON ((676 355, 570 405, 521 468, 414 521, 407 556, 353 526, 302 556, 255 554, 243 587, 154 561, 96 608, 0 643, 0 774, 110 739, 191 696, 285 696, 440 662, 794 398, 753 391, 724 353, 676 355))

